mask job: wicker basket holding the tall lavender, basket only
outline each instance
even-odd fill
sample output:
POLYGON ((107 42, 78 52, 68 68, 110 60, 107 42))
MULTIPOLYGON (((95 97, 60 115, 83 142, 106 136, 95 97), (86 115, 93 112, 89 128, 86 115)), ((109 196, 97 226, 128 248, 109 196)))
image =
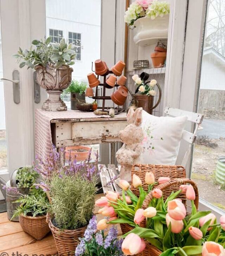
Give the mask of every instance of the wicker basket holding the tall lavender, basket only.
POLYGON ((49 228, 52 231, 58 255, 74 256, 75 249, 79 244, 78 238, 84 236, 86 226, 75 230, 59 229, 52 224, 49 213, 47 213, 47 222, 49 223, 49 228))

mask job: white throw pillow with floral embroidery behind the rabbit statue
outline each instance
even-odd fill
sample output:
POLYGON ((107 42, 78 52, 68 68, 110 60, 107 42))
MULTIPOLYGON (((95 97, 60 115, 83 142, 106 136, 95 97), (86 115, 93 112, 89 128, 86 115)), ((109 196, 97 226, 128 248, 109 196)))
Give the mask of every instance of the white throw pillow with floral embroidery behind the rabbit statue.
POLYGON ((153 116, 142 111, 142 164, 175 165, 187 116, 153 116))

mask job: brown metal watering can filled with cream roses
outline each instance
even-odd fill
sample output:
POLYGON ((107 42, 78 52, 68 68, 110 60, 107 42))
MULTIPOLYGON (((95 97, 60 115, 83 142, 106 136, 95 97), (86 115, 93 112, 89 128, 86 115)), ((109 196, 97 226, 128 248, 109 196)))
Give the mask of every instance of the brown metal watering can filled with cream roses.
POLYGON ((144 83, 144 81, 138 76, 133 75, 132 79, 135 81, 136 93, 134 94, 135 101, 137 101, 137 106, 142 107, 143 110, 152 114, 152 110, 158 106, 161 100, 161 88, 155 79, 151 79, 144 83), (159 99, 156 104, 154 103, 154 96, 156 96, 156 91, 154 90, 155 85, 159 89, 159 99))

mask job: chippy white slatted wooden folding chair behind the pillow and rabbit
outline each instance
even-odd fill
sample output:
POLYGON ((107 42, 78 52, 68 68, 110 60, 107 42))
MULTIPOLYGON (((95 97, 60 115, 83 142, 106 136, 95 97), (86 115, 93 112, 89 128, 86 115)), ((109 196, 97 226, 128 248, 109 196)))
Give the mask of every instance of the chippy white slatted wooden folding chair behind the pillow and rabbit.
MULTIPOLYGON (((184 158, 182 160, 181 165, 186 167, 187 161, 189 159, 192 145, 195 142, 195 139, 197 137, 197 131, 200 127, 200 124, 203 121, 203 114, 199 113, 193 113, 190 111, 185 111, 181 109, 176 108, 169 108, 166 107, 164 110, 164 113, 169 116, 178 117, 178 116, 187 116, 187 121, 190 121, 194 124, 194 132, 188 132, 187 130, 183 130, 182 133, 182 140, 188 142, 188 149, 185 152, 184 158)), ((115 167, 115 165, 108 165, 108 168, 105 165, 98 165, 98 169, 100 172, 100 179, 103 187, 103 192, 106 193, 107 191, 116 191, 121 193, 121 188, 117 185, 120 178, 116 178, 118 176, 120 166, 118 168, 115 167), (113 180, 115 179, 115 180, 113 180), (113 180, 112 183, 110 183, 110 180, 113 180)))

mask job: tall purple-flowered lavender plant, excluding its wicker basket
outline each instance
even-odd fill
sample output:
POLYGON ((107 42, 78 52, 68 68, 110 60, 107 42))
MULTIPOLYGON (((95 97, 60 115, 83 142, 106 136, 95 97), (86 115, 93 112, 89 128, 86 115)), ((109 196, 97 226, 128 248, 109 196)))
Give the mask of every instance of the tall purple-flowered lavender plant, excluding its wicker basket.
POLYGON ((98 153, 94 163, 90 161, 91 151, 80 163, 69 158, 69 165, 65 165, 62 158, 65 162, 65 151, 54 151, 45 161, 37 158, 36 170, 45 180, 39 186, 49 197, 48 211, 53 225, 63 230, 75 230, 86 226, 93 215, 98 153))

